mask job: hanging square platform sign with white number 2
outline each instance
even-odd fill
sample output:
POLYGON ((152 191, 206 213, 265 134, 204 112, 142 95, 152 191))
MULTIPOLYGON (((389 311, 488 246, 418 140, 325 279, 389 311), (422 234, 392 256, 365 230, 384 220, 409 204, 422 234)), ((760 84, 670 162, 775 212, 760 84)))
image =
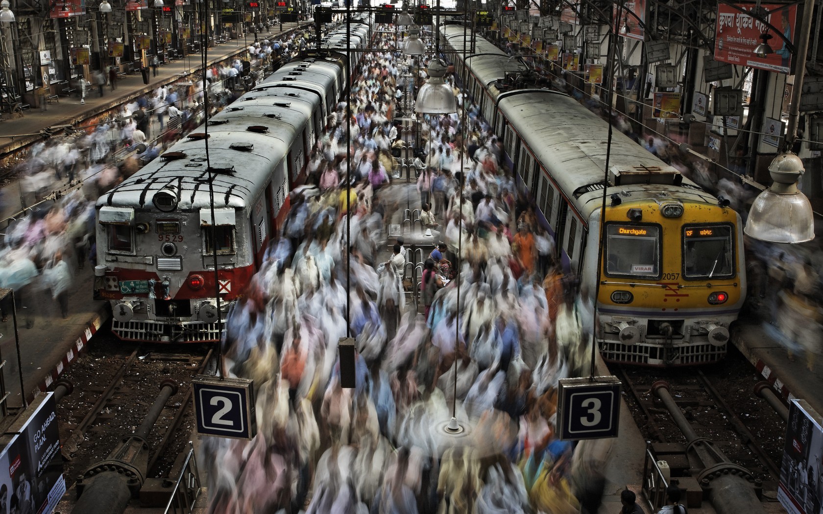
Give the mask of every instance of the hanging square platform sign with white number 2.
POLYGON ((223 438, 254 437, 257 422, 252 380, 198 375, 192 386, 198 433, 223 438))

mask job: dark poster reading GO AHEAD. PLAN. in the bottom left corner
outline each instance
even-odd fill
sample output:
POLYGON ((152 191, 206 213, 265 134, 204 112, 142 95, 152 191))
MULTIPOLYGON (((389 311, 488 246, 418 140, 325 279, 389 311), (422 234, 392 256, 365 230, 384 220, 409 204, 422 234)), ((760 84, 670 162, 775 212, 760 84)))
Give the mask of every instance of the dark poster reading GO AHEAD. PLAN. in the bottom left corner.
POLYGON ((37 396, 0 438, 0 514, 49 514, 66 492, 55 408, 53 393, 37 396))

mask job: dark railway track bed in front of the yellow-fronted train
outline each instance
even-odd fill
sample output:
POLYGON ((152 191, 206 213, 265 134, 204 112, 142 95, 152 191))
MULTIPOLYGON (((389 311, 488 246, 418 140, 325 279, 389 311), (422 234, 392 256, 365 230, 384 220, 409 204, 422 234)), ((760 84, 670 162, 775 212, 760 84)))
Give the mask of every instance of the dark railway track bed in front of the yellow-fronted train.
POLYGON ((722 364, 705 368, 657 370, 621 366, 625 401, 644 437, 651 442, 686 442, 653 384, 668 382, 672 398, 700 438, 708 438, 728 459, 764 484, 779 479, 785 424, 752 391, 756 371, 730 354, 722 364))

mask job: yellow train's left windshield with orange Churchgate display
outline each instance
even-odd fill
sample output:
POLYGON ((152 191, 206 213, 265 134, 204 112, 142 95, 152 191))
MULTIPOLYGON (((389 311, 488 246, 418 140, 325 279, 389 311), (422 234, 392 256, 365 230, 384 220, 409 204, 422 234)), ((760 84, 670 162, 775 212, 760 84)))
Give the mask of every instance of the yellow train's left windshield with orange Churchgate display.
POLYGON ((608 276, 660 275, 660 227, 657 225, 615 225, 606 227, 608 276))

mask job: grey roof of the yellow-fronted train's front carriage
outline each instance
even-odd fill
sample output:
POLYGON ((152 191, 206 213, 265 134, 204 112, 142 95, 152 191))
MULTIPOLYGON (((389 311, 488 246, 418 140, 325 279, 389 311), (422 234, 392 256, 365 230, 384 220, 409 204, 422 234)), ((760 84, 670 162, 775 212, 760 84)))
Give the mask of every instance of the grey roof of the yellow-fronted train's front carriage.
MULTIPOLYGON (((608 123, 577 100, 553 90, 519 90, 503 95, 500 109, 509 123, 548 169, 575 208, 588 219, 599 208, 606 173, 608 123)), ((609 169, 622 173, 654 170, 661 176, 678 175, 677 169, 639 146, 619 130, 611 135, 609 169)), ((612 194, 609 187, 608 194, 612 194)), ((714 201, 709 193, 687 178, 679 186, 632 184, 613 192, 667 191, 681 201, 714 201)))

